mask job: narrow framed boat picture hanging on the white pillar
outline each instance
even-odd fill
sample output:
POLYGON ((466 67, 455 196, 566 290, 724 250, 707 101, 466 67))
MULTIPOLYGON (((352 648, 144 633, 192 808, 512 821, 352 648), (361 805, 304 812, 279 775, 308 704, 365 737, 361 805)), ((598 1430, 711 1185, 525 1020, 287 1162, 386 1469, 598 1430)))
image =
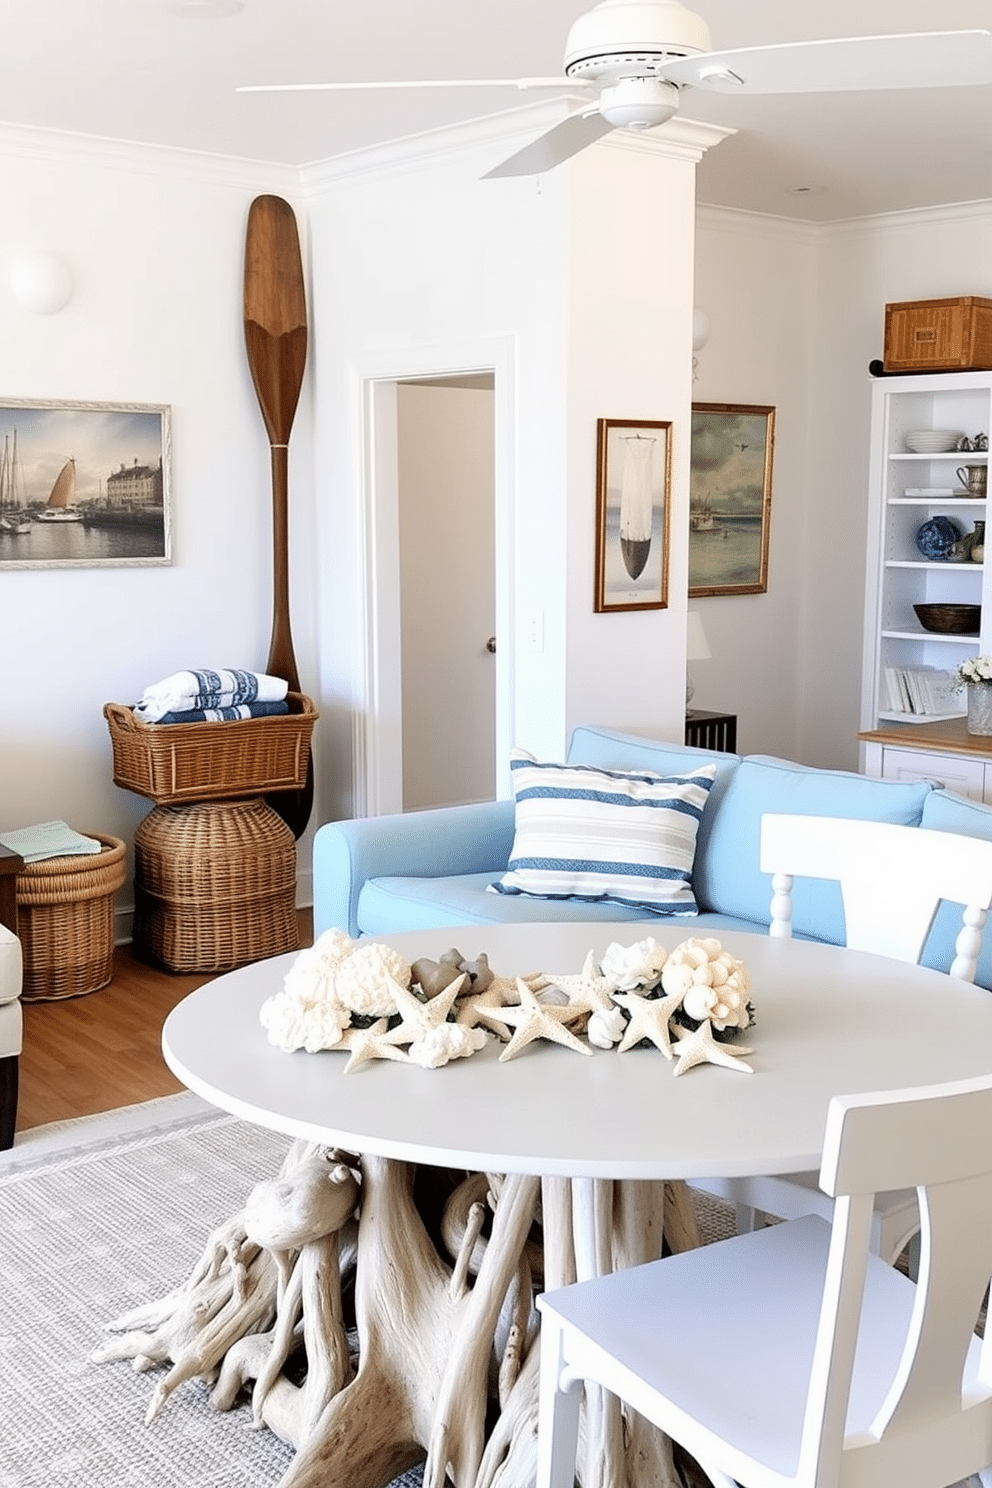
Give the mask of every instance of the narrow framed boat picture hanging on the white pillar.
POLYGON ((596 612, 668 606, 671 430, 671 420, 596 420, 596 612))

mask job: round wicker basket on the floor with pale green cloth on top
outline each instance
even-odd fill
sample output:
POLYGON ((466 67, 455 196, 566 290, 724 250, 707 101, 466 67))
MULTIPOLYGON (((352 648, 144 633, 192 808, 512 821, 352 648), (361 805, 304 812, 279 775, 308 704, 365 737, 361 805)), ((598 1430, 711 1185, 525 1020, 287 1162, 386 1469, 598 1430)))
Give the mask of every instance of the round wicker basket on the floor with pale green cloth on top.
POLYGON ((113 896, 123 884, 119 838, 89 832, 100 853, 46 857, 18 873, 18 936, 27 1001, 97 992, 113 976, 113 896))

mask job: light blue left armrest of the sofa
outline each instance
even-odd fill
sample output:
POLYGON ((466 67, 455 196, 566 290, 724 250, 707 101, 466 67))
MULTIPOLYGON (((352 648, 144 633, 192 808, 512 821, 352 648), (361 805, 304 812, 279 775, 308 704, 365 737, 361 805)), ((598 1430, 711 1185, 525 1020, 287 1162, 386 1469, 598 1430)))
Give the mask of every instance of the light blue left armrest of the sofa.
POLYGON ((358 894, 370 878, 503 873, 513 847, 513 801, 329 821, 314 835, 314 936, 358 934, 358 894))

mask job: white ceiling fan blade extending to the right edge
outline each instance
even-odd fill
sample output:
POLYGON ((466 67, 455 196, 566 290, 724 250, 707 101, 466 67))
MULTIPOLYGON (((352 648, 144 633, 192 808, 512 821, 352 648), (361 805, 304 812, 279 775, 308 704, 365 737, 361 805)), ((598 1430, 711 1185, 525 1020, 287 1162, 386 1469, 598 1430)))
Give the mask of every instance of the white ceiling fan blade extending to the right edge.
POLYGON ((925 31, 748 46, 668 62, 674 83, 715 92, 875 92, 992 83, 992 33, 925 31))

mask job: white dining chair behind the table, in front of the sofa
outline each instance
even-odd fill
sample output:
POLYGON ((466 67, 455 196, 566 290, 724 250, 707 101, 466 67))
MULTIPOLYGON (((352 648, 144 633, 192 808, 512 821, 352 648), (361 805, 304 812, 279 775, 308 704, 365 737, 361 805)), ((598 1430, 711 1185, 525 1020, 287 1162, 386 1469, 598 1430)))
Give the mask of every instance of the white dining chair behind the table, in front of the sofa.
MULTIPOLYGON (((974 981, 992 905, 992 842, 886 821, 767 814, 761 817, 760 854, 761 872, 772 875, 770 936, 793 933, 796 878, 830 878, 840 884, 851 949, 916 963, 946 899, 964 906, 950 976, 974 981)), ((703 1178, 696 1187, 733 1204, 738 1231, 753 1229, 759 1213, 776 1219, 830 1216, 815 1173, 703 1178)), ((910 1244, 915 1269, 918 1234, 916 1195, 880 1193, 873 1213, 876 1254, 895 1260, 910 1244)))

